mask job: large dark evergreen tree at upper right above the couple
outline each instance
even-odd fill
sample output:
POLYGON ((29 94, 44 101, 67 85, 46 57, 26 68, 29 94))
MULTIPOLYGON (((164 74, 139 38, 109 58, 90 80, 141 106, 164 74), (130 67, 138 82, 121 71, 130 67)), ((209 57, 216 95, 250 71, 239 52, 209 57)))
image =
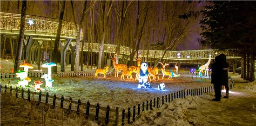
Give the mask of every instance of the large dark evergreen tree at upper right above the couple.
POLYGON ((211 1, 201 11, 185 13, 180 17, 186 19, 199 14, 202 14, 200 44, 241 56, 241 78, 254 81, 256 2, 211 1))

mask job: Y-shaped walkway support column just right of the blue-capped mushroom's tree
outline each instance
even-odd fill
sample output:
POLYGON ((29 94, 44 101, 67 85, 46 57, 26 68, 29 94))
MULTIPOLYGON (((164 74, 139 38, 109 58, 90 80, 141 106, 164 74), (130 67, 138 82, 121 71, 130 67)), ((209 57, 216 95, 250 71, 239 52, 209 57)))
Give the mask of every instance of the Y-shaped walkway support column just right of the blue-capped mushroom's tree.
POLYGON ((61 72, 65 72, 65 61, 66 61, 66 51, 67 47, 71 43, 72 39, 68 39, 66 44, 62 44, 60 41, 61 47, 61 72))

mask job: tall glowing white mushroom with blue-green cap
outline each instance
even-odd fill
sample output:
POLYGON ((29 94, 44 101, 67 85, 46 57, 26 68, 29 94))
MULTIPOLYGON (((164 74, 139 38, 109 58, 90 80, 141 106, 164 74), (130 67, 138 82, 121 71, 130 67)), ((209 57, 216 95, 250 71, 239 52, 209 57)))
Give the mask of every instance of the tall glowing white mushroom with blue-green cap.
POLYGON ((48 74, 41 76, 41 78, 45 79, 45 84, 47 88, 52 88, 52 82, 54 82, 54 80, 52 79, 52 70, 51 70, 51 67, 53 66, 56 66, 56 63, 48 62, 48 63, 42 64, 42 68, 48 69, 48 74))

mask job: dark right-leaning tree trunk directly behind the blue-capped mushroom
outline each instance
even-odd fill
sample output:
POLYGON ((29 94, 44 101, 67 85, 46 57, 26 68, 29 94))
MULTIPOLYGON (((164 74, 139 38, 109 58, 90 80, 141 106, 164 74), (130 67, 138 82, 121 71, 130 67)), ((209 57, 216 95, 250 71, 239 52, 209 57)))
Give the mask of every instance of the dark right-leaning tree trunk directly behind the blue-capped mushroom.
MULTIPOLYGON (((55 38, 55 43, 54 43, 54 53, 52 57, 52 62, 56 63, 58 62, 58 49, 60 46, 60 38, 61 38, 61 28, 62 28, 62 20, 64 16, 64 10, 65 10, 65 3, 66 1, 62 1, 62 6, 61 6, 61 13, 60 13, 60 18, 59 18, 59 25, 58 25, 58 30, 55 38)), ((57 66, 53 67, 52 73, 57 73, 57 66)))

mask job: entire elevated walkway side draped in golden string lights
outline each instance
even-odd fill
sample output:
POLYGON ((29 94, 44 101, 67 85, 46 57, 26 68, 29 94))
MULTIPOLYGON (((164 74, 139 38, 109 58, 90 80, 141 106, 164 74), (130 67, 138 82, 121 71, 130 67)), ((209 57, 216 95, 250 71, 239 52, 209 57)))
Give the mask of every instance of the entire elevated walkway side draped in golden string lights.
MULTIPOLYGON (((34 40, 44 43, 44 41, 54 41, 58 29, 58 19, 51 19, 40 16, 31 16, 26 15, 26 24, 25 24, 25 35, 33 36, 34 40)), ((18 36, 20 30, 20 14, 14 13, 0 13, 0 30, 2 35, 6 36, 18 36)), ((82 34, 81 34, 82 35, 82 34)), ((72 22, 63 21, 61 29, 61 39, 67 41, 67 39, 75 39, 76 30, 75 24, 72 22)), ((80 43, 81 44, 81 43, 80 43)), ((71 42, 71 45, 74 45, 74 42, 71 42)), ((85 43, 84 51, 98 52, 100 44, 98 43, 85 43)), ((53 44, 44 44, 42 49, 53 50, 53 44)), ((114 44, 104 44, 104 52, 115 53, 116 45, 114 44)), ((70 50, 70 47, 68 47, 70 50)), ((81 50, 81 45, 80 45, 81 50)), ((159 59, 163 56, 164 50, 139 50, 142 57, 150 57, 159 59)), ((227 58, 241 58, 230 54, 228 51, 222 52, 217 50, 182 50, 182 51, 167 51, 163 59, 169 60, 207 60, 209 55, 212 55, 212 58, 224 53, 227 55, 227 58)), ((128 56, 130 55, 129 47, 121 46, 120 55, 128 56)))

